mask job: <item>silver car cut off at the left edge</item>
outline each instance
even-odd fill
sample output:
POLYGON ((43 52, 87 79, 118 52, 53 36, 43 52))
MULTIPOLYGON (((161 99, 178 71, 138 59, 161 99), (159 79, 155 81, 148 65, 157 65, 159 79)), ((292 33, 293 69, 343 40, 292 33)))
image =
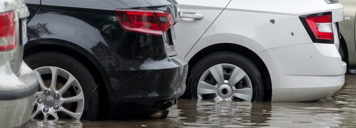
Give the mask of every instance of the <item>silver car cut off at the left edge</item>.
POLYGON ((23 0, 0 0, 0 124, 27 127, 36 98, 37 76, 22 61, 27 42, 23 0))

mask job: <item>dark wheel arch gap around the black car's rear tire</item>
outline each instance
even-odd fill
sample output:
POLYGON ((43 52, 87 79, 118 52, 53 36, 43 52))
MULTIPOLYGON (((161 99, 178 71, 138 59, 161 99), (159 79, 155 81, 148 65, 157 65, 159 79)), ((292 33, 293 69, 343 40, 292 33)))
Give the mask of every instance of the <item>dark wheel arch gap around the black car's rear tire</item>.
POLYGON ((99 119, 106 119, 109 115, 109 97, 106 86, 110 85, 109 76, 107 75, 104 67, 100 66, 100 62, 94 56, 86 51, 84 48, 79 47, 75 43, 68 42, 60 39, 38 39, 28 41, 26 44, 23 56, 30 55, 31 53, 40 51, 58 51, 73 56, 83 62, 91 73, 94 75, 95 80, 98 82, 99 97, 99 119), (104 85, 104 86, 100 86, 104 85))

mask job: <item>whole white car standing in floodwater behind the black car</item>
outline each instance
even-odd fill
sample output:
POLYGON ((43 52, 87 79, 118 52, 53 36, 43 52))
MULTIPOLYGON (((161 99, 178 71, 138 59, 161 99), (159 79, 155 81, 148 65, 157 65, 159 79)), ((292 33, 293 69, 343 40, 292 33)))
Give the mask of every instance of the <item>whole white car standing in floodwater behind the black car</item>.
POLYGON ((313 101, 344 85, 337 0, 177 0, 186 98, 313 101))

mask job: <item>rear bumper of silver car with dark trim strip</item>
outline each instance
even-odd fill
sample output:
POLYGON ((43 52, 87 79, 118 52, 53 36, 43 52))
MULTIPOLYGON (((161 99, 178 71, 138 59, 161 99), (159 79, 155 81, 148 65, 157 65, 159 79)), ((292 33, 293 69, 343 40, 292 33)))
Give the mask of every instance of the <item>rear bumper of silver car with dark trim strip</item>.
POLYGON ((5 72, 0 73, 2 78, 0 82, 1 127, 27 127, 33 101, 36 99, 37 77, 23 61, 19 76, 16 76, 12 70, 6 69, 10 67, 5 67, 5 72))

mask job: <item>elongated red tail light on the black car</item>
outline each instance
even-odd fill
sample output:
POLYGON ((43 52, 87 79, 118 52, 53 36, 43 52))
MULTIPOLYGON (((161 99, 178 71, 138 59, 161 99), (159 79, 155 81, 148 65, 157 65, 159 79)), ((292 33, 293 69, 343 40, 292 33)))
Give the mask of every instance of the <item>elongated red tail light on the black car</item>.
POLYGON ((145 34, 162 35, 174 24, 169 11, 116 9, 115 15, 123 29, 145 34))

